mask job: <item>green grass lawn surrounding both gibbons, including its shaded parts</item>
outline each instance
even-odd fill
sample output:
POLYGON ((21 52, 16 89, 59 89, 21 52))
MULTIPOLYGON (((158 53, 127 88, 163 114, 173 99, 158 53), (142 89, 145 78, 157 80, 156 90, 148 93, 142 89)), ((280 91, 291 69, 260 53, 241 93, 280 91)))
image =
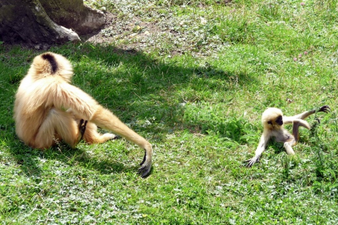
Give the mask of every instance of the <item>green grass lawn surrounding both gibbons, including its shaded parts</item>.
MULTIPOLYGON (((74 65, 76 86, 153 144, 145 179, 142 150, 124 139, 23 145, 14 95, 41 51, 0 44, 0 224, 337 224, 336 1, 148 2, 130 7, 154 23, 168 13, 187 39, 164 35, 139 52, 119 46, 134 39, 51 48, 74 65), (266 107, 324 104, 331 113, 308 119, 295 156, 271 142, 243 166, 266 107)), ((123 16, 114 4, 95 6, 123 16)))

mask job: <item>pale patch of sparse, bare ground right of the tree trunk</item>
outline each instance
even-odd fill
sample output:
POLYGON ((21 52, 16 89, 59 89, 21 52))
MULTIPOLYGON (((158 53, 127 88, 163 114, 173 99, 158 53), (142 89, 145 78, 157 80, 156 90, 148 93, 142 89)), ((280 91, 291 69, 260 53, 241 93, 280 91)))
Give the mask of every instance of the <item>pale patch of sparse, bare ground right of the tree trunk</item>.
POLYGON ((197 10, 182 5, 171 9, 159 6, 156 1, 113 2, 116 10, 106 13, 105 27, 82 40, 113 44, 127 51, 156 52, 167 57, 186 53, 209 56, 229 45, 211 31, 219 22, 206 13, 212 8, 205 9, 206 6, 201 5, 197 10))

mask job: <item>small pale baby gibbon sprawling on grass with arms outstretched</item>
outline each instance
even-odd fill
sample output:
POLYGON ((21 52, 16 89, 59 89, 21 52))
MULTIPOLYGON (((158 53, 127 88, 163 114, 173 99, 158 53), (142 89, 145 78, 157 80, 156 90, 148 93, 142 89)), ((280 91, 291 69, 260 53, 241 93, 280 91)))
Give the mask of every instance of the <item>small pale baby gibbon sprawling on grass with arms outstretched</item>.
POLYGON ((265 150, 266 144, 270 138, 274 137, 277 142, 284 143, 284 148, 287 154, 294 155, 292 146, 294 146, 299 140, 299 126, 303 126, 307 129, 310 129, 310 125, 304 119, 308 116, 323 111, 328 113, 330 107, 324 105, 317 109, 312 109, 305 111, 302 114, 286 117, 283 116, 283 113, 278 108, 267 108, 262 114, 262 124, 263 124, 263 134, 261 141, 258 144, 258 147, 255 152, 255 156, 246 162, 247 167, 251 167, 256 162, 259 161, 261 154, 265 150), (292 134, 290 134, 285 128, 284 124, 292 123, 292 134))

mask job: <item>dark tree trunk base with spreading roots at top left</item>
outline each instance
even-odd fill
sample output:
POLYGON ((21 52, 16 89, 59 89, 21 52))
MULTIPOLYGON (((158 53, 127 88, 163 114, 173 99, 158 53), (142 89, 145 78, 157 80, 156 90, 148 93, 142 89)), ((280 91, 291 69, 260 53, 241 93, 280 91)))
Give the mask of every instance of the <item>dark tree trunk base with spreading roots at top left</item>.
POLYGON ((82 0, 0 1, 0 40, 5 43, 47 49, 53 43, 79 41, 78 34, 91 33, 104 23, 104 14, 82 0))

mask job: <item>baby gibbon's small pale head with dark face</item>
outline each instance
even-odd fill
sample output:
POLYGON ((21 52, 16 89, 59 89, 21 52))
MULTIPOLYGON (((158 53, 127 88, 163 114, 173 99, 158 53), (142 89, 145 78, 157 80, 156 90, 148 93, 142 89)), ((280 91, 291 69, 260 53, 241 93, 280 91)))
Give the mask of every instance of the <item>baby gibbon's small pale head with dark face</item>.
POLYGON ((283 126, 283 113, 279 108, 267 108, 262 114, 262 124, 267 129, 279 129, 283 126))

